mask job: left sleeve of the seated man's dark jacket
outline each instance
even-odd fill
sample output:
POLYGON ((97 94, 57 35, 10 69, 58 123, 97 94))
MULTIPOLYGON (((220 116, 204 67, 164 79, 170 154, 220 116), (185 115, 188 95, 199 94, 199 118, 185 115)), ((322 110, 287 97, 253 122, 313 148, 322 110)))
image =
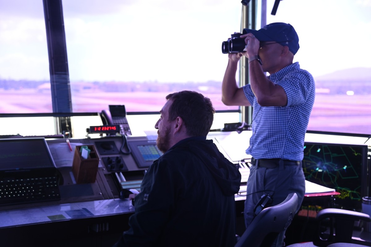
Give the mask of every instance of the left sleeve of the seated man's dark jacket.
POLYGON ((174 208, 174 184, 166 161, 153 163, 135 197, 135 214, 129 218, 116 246, 155 246, 174 208))

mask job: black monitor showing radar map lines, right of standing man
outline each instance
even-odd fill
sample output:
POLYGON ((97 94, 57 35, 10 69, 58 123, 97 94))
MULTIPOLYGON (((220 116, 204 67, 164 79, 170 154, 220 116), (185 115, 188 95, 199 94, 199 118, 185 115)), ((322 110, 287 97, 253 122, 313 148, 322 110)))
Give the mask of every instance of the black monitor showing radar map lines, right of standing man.
POLYGON ((368 146, 305 142, 305 179, 335 189, 335 207, 361 211, 368 196, 368 146))

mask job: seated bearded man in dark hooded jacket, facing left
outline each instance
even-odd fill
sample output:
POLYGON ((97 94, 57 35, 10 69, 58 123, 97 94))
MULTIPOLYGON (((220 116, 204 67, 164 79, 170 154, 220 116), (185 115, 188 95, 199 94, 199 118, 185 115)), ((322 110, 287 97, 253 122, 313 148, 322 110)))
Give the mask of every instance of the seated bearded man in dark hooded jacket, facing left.
POLYGON ((175 92, 166 100, 155 124, 164 155, 145 174, 131 228, 115 246, 233 246, 234 194, 241 174, 206 140, 213 105, 193 91, 175 92))

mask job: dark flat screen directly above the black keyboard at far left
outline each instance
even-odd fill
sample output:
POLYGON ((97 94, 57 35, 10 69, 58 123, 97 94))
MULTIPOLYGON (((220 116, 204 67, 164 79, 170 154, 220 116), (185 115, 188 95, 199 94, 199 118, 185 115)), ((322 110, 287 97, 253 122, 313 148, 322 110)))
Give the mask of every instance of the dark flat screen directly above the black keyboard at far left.
POLYGON ((44 138, 0 139, 0 170, 55 167, 44 138))

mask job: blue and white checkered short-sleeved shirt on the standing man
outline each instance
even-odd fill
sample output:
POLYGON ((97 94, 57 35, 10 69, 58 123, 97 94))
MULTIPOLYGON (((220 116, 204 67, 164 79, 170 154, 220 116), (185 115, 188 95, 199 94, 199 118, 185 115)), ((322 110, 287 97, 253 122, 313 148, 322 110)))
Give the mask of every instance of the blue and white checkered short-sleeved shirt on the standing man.
POLYGON ((296 62, 270 75, 269 79, 285 90, 287 105, 262 107, 251 85, 243 87, 253 106, 252 136, 246 153, 255 159, 302 160, 305 132, 315 98, 313 77, 296 62))

